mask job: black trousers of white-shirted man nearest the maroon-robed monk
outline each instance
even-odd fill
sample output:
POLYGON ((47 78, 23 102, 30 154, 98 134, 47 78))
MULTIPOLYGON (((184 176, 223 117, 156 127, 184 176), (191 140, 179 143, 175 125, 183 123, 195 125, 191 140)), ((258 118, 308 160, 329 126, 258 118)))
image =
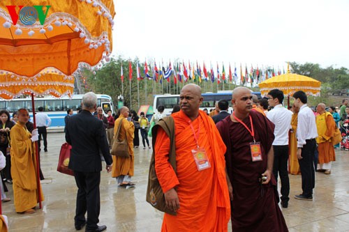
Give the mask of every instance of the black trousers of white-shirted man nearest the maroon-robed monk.
POLYGON ((281 180, 281 201, 288 202, 290 198, 290 179, 288 178, 288 145, 278 146, 273 145, 274 148, 274 165, 273 174, 276 179, 276 187, 278 183, 278 174, 281 180))

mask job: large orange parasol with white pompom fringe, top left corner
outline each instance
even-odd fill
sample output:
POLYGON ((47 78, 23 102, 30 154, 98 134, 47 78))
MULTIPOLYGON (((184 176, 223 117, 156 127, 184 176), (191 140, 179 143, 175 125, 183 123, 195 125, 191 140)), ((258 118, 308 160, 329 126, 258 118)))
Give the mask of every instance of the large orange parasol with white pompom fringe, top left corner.
POLYGON ((108 61, 114 15, 112 0, 0 1, 0 69, 71 75, 80 62, 108 61))

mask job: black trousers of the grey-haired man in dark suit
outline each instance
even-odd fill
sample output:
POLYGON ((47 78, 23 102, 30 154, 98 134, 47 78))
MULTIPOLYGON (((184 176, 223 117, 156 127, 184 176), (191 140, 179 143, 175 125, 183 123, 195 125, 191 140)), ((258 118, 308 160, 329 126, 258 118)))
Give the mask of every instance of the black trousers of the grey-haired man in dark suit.
POLYGON ((76 196, 75 226, 86 221, 87 230, 98 228, 101 199, 99 195, 99 184, 101 183, 101 171, 81 172, 74 171, 75 182, 78 187, 76 196))

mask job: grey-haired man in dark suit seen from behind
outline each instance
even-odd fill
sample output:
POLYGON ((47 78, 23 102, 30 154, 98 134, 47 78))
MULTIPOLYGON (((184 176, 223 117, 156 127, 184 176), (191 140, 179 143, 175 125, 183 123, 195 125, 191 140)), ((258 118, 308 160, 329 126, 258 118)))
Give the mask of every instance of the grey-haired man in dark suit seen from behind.
POLYGON ((102 171, 99 152, 101 150, 107 163, 107 172, 112 171, 112 157, 103 122, 93 116, 97 106, 96 95, 92 92, 85 93, 81 105, 81 113, 71 116, 66 125, 66 141, 72 146, 68 167, 74 171, 78 187, 75 229, 79 231, 87 224, 87 232, 105 231, 107 226, 98 226, 101 208, 99 184, 102 171))

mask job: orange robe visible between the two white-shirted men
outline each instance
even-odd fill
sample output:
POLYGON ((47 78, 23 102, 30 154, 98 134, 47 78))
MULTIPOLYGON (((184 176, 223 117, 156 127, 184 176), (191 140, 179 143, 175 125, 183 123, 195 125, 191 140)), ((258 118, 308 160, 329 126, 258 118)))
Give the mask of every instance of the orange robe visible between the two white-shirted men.
POLYGON ((292 175, 299 175, 299 162, 297 158, 297 124, 298 114, 292 114, 291 127, 293 132, 290 132, 290 173, 292 175))

